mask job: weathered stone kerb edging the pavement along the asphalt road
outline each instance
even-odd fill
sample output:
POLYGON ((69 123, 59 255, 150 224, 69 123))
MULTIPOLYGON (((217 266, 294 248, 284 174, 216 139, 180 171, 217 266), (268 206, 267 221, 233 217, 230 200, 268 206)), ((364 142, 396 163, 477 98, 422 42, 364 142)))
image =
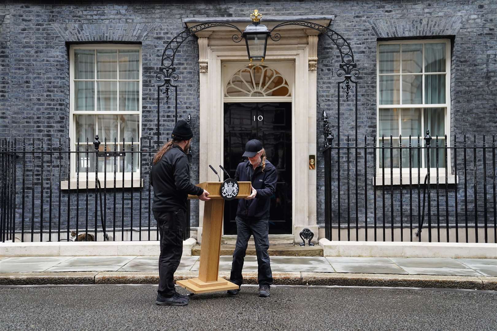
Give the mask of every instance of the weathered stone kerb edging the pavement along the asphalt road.
MULTIPOLYGON (((228 271, 219 275, 229 279, 228 271)), ((257 272, 243 272, 246 284, 257 284, 257 272)), ((174 280, 198 277, 198 271, 181 271, 174 280)), ((332 272, 273 272, 274 285, 305 286, 388 286, 453 288, 497 291, 497 277, 445 276, 332 272)), ((158 284, 158 271, 103 272, 22 272, 0 274, 0 285, 62 285, 62 284, 158 284)))

